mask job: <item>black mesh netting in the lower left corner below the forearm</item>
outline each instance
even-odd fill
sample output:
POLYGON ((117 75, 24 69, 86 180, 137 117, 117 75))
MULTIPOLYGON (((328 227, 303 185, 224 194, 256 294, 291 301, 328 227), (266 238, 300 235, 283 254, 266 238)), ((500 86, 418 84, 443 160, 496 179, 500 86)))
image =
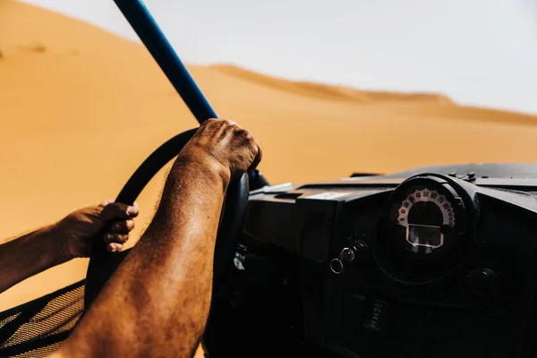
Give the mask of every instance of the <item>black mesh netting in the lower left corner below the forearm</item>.
POLYGON ((84 310, 84 280, 0 313, 0 357, 46 357, 84 310))

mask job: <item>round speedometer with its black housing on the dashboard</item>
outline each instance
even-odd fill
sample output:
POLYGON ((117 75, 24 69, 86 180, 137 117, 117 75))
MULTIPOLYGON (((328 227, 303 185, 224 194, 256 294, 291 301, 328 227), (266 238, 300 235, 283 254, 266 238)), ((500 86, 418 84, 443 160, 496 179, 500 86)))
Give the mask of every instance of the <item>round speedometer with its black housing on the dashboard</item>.
POLYGON ((473 243, 468 198, 465 187, 445 175, 416 175, 401 183, 389 196, 373 245, 379 267, 405 283, 430 282, 455 268, 473 243))

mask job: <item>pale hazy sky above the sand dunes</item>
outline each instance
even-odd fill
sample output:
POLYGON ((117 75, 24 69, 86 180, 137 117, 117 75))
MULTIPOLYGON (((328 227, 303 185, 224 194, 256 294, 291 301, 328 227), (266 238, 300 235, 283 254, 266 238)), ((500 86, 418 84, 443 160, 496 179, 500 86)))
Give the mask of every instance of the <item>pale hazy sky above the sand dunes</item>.
MULTIPOLYGON (((138 40, 112 0, 24 0, 138 40)), ((537 114, 537 0, 145 0, 183 62, 537 114)))

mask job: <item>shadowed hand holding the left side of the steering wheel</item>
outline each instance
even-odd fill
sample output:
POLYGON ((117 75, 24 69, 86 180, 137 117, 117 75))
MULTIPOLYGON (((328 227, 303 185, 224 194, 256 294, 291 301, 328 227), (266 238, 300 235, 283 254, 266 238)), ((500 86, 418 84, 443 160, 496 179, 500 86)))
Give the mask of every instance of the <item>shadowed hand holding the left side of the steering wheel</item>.
POLYGON ((94 240, 104 240, 107 250, 121 251, 134 227, 138 206, 107 200, 100 205, 76 210, 55 224, 55 234, 64 240, 63 254, 68 258, 89 257, 94 240), (108 229, 105 233, 104 230, 108 229))

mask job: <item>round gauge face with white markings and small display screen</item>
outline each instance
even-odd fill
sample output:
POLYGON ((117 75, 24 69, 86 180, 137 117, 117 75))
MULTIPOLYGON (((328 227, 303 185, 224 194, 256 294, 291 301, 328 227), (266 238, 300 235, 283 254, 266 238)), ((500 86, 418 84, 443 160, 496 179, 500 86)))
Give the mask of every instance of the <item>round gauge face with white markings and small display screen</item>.
POLYGON ((396 223, 405 227, 405 240, 414 247, 438 249, 455 227, 451 202, 434 189, 411 190, 396 206, 396 223))

